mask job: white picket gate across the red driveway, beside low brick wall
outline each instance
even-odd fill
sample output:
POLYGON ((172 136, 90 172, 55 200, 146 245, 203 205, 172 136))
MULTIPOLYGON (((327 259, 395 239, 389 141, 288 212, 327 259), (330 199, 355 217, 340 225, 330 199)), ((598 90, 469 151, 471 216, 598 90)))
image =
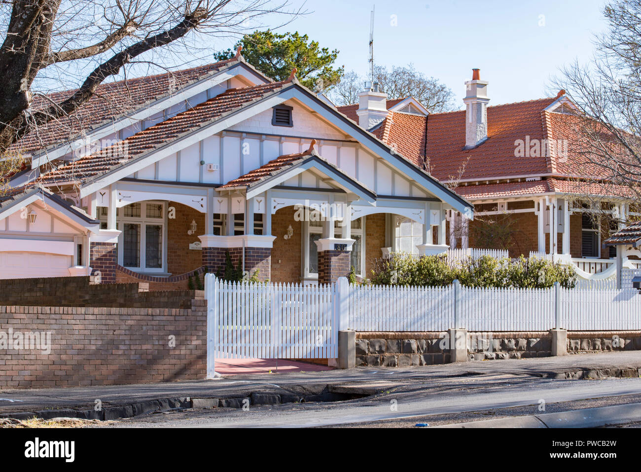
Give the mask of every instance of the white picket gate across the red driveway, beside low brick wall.
POLYGON ((207 274, 208 376, 215 358, 336 358, 339 289, 226 282, 207 274))

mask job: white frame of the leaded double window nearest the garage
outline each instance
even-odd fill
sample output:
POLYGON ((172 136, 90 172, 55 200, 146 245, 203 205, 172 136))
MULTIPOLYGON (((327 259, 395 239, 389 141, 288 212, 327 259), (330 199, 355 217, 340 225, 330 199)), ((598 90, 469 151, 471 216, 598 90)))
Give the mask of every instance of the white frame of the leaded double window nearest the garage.
POLYGON ((117 229, 121 230, 121 233, 118 237, 118 264, 126 269, 129 269, 133 272, 138 272, 142 274, 153 273, 153 274, 165 274, 167 273, 167 205, 163 201, 137 201, 135 203, 140 203, 140 217, 125 217, 124 216, 124 207, 118 208, 118 219, 116 221, 117 229), (147 203, 152 205, 162 205, 162 218, 149 218, 147 217, 147 203), (127 267, 123 264, 124 262, 124 224, 125 223, 136 223, 140 224, 140 266, 139 267, 127 267), (146 231, 144 226, 146 224, 153 225, 162 225, 162 267, 145 267, 146 263, 146 231))

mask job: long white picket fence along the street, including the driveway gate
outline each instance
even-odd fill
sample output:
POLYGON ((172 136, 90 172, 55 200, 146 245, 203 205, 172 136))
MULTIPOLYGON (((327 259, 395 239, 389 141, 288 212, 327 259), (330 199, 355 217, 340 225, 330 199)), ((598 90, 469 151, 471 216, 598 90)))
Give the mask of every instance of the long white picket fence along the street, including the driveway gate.
MULTIPOLYGON (((633 271, 629 271, 632 273, 633 271)), ((631 274, 626 274, 626 280, 631 274)), ((641 330, 631 287, 563 289, 224 282, 207 274, 207 362, 218 358, 336 358, 338 331, 641 330)))

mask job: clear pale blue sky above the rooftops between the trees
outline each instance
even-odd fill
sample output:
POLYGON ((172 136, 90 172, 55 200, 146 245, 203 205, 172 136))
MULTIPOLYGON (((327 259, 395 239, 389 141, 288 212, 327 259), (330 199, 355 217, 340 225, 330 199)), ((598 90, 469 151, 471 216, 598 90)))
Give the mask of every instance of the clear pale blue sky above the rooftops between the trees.
POLYGON ((298 30, 339 49, 338 65, 365 74, 372 4, 374 61, 388 67, 414 63, 450 87, 460 105, 472 67, 490 81, 490 105, 551 94, 550 78, 575 58, 587 61, 592 33, 606 26, 603 0, 308 0, 312 13, 281 31, 298 30))

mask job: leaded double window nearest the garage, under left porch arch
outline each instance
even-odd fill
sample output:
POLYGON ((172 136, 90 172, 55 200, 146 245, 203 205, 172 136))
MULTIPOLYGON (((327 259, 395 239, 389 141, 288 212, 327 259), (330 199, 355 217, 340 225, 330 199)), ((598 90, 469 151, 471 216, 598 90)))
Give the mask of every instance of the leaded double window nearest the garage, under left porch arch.
MULTIPOLYGON (((99 207, 98 215, 100 227, 106 228, 107 208, 99 207)), ((118 208, 116 229, 122 231, 118 241, 119 264, 139 272, 165 270, 164 203, 147 201, 118 208)))

